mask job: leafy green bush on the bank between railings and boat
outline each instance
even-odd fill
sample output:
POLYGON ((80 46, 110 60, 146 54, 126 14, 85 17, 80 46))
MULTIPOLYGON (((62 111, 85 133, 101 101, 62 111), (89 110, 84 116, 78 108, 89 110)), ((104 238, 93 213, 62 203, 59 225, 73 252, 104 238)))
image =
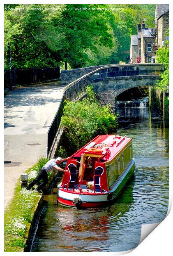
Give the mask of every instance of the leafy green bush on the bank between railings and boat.
POLYGON ((116 128, 116 117, 110 108, 103 107, 93 97, 91 87, 87 88, 88 99, 78 102, 67 102, 61 125, 65 131, 63 148, 67 154, 87 144, 98 134, 107 134, 109 129, 116 128))

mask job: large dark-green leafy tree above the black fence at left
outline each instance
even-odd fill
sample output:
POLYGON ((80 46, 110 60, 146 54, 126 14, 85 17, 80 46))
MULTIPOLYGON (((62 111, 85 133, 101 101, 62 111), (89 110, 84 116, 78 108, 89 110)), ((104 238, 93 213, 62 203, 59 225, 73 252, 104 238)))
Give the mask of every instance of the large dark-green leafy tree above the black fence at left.
MULTIPOLYGON (((82 10, 99 6, 18 5, 5 10, 5 52, 10 41, 13 67, 56 66, 66 61, 77 68, 85 66, 86 50, 97 52, 98 45, 112 47, 112 13, 82 10)), ((7 57, 5 63, 7 66, 7 57)))

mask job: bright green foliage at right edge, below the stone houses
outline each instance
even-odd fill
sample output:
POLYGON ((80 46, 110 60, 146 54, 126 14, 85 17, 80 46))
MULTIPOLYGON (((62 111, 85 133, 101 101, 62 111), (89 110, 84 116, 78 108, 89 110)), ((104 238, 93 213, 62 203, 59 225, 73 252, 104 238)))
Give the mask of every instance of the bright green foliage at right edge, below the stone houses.
MULTIPOLYGON (((166 36, 169 35, 169 31, 167 30, 166 36)), ((156 51, 156 60, 159 63, 163 63, 165 66, 165 70, 160 74, 161 80, 156 83, 156 88, 161 91, 168 90, 169 85, 169 42, 165 41, 165 45, 159 48, 156 51)))

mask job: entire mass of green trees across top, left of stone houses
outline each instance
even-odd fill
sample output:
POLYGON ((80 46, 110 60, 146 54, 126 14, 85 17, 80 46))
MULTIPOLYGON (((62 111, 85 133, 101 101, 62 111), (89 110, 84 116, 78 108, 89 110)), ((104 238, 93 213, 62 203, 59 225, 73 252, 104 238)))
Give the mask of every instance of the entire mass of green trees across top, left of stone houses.
POLYGON ((123 52, 129 50, 130 35, 143 19, 146 26, 153 25, 153 17, 140 5, 5 5, 5 69, 9 70, 9 42, 12 68, 126 61, 128 54, 123 52))

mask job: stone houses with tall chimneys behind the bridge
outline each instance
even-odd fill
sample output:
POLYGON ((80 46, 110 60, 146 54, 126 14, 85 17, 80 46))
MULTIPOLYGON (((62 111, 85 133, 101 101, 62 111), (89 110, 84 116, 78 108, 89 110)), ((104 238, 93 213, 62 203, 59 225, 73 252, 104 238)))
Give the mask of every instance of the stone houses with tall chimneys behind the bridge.
POLYGON ((145 28, 143 21, 142 24, 138 24, 138 34, 131 35, 130 62, 136 63, 140 59, 141 63, 155 63, 155 51, 168 40, 165 36, 168 28, 169 5, 156 5, 155 28, 145 28))

